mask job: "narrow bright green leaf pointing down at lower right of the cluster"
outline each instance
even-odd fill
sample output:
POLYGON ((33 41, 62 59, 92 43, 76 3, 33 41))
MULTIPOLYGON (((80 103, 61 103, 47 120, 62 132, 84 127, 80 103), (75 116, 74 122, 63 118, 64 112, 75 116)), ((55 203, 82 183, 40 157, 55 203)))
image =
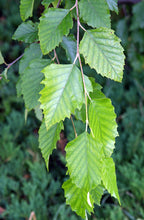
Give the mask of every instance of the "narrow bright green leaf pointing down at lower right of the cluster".
MULTIPOLYGON (((120 203, 119 193, 116 183, 115 164, 112 158, 104 159, 102 168, 102 181, 108 192, 120 203)), ((120 203, 121 204, 121 203, 120 203)))

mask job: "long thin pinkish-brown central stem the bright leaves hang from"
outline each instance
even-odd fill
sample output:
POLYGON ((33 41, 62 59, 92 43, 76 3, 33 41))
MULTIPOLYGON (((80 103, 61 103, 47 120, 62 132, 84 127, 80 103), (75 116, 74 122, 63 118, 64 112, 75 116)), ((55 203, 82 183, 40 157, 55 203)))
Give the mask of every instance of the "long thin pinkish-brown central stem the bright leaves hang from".
POLYGON ((86 131, 87 131, 87 127, 88 127, 87 94, 88 94, 88 92, 87 92, 87 89, 86 89, 86 84, 85 84, 85 80, 84 80, 84 72, 83 72, 82 62, 81 62, 80 53, 79 53, 79 27, 80 27, 80 19, 79 19, 78 0, 76 0, 75 4, 76 4, 76 13, 77 13, 77 54, 76 54, 76 58, 79 59, 80 69, 81 69, 81 74, 82 74, 82 80, 83 80, 83 85, 84 85, 85 106, 86 106, 86 131))

